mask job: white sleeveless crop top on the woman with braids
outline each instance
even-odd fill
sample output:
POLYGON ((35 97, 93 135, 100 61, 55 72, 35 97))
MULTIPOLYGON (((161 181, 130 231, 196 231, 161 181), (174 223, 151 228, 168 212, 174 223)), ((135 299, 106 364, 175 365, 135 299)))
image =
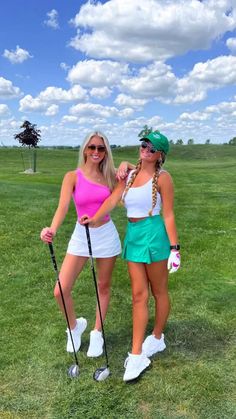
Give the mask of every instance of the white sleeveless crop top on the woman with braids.
MULTIPOLYGON (((127 183, 132 175, 133 170, 129 173, 127 183)), ((129 188, 124 205, 127 209, 127 217, 141 218, 148 217, 152 208, 152 178, 142 186, 129 188)), ((152 215, 159 215, 161 211, 161 195, 157 192, 157 202, 152 210, 152 215)))

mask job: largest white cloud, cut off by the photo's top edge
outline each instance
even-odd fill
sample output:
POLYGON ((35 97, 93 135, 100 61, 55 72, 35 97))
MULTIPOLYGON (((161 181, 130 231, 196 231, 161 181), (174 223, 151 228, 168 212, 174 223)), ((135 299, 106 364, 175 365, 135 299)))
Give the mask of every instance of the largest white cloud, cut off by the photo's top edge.
POLYGON ((96 58, 163 60, 206 49, 234 30, 231 6, 226 0, 87 2, 73 20, 78 33, 70 44, 96 58))

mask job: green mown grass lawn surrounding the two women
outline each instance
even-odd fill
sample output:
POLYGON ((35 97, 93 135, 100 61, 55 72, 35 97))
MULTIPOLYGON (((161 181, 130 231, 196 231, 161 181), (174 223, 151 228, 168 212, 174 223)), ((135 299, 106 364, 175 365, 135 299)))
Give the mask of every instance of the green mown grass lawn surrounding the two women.
MULTIPOLYGON (((133 147, 114 151, 116 165, 137 156, 133 147)), ((135 384, 122 382, 132 306, 120 258, 106 321, 112 375, 93 381, 104 360, 86 357, 95 309, 89 267, 74 288, 77 313, 89 323, 79 353, 81 374, 78 380, 66 375, 73 358, 65 352, 55 275, 39 233, 50 223, 62 178, 77 158, 75 150, 39 149, 39 173, 26 175, 19 149, 0 148, 0 418, 236 418, 236 147, 171 149, 165 166, 175 182, 182 267, 170 276, 167 350, 135 384)), ((124 209, 114 210, 113 219, 123 238, 124 209)), ((55 240, 59 264, 74 223, 71 205, 55 240)), ((148 331, 153 307, 150 300, 148 331)))

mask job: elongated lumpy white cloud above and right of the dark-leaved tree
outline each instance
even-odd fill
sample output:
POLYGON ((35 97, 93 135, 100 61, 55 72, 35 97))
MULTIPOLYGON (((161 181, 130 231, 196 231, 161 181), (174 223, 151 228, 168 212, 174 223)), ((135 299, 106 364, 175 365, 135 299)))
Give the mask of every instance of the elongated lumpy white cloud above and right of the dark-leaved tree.
POLYGON ((75 100, 87 100, 87 92, 81 86, 74 85, 69 90, 64 90, 61 87, 49 86, 35 98, 31 95, 23 97, 20 100, 19 110, 21 112, 44 112, 48 110, 48 105, 52 102, 55 106, 56 103, 66 103, 75 100))

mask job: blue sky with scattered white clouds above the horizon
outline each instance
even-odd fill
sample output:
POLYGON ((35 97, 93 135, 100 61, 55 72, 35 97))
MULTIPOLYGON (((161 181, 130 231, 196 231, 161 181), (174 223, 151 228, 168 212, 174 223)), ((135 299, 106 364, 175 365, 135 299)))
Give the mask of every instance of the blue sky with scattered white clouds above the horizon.
POLYGON ((143 125, 186 143, 236 136, 235 0, 20 0, 0 14, 0 145, 27 119, 42 145, 143 125))

